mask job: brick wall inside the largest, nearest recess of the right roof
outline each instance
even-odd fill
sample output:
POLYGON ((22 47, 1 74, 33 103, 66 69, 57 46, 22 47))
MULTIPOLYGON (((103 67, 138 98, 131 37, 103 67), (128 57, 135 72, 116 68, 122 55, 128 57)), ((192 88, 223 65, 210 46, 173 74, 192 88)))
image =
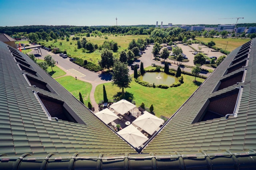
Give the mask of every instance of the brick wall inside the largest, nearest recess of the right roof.
POLYGON ((210 102, 208 111, 218 113, 222 116, 233 114, 236 106, 238 91, 236 94, 210 102))

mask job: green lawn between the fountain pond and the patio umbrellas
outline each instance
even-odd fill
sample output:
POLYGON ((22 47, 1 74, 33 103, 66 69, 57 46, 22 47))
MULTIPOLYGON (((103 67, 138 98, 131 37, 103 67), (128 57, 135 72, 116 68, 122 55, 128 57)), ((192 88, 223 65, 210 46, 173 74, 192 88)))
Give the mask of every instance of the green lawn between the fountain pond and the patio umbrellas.
MULTIPOLYGON (((155 115, 160 117, 161 115, 170 117, 178 108, 192 95, 197 89, 197 85, 193 83, 195 77, 183 75, 184 83, 179 87, 172 87, 168 89, 144 87, 132 80, 131 88, 126 88, 125 91, 133 95, 136 106, 140 106, 143 102, 146 107, 150 107, 151 104, 154 106, 155 115)), ((198 82, 203 82, 204 79, 196 78, 198 82)), ((200 83, 198 83, 200 84, 200 83)), ((113 95, 121 90, 112 86, 111 83, 105 83, 106 92, 108 99, 112 100, 113 95)), ((103 100, 103 84, 99 84, 96 87, 94 97, 96 102, 103 100)))

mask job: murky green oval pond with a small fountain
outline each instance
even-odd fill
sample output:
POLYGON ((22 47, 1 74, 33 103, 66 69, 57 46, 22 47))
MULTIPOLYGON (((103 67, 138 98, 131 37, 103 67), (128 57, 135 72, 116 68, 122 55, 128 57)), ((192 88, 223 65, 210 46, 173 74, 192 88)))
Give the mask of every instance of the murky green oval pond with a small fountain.
POLYGON ((178 82, 178 78, 172 75, 168 75, 165 72, 146 72, 143 76, 139 76, 140 80, 155 85, 165 84, 170 85, 174 82, 178 82))

